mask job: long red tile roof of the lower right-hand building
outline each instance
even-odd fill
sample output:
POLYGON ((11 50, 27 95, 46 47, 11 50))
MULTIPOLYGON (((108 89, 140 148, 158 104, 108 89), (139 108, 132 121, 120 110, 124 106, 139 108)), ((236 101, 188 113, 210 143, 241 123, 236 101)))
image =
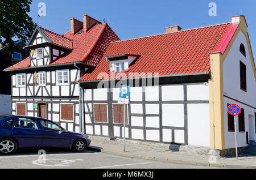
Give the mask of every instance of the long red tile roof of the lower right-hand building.
MULTIPOLYGON (((129 72, 138 72, 134 76, 144 76, 139 75, 142 72, 152 72, 153 75, 154 72, 158 72, 159 75, 209 72, 209 53, 219 51, 217 47, 224 41, 225 45, 221 46, 223 52, 222 49, 225 49, 237 27, 238 24, 224 23, 112 42, 97 67, 86 71, 80 81, 103 79, 101 76, 98 78, 98 75, 100 72, 109 72, 109 63, 105 61, 105 57, 118 54, 140 55, 124 72, 127 77, 129 72)), ((115 74, 122 76, 123 72, 115 74)), ((110 74, 105 78, 110 79, 110 74)))

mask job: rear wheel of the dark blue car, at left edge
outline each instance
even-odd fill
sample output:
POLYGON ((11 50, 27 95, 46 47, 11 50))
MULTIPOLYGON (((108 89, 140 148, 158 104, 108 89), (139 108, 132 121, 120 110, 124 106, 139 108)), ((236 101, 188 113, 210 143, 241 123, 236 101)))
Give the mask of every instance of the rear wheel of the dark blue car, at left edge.
POLYGON ((10 138, 3 138, 0 140, 0 155, 11 155, 18 148, 15 140, 10 138))

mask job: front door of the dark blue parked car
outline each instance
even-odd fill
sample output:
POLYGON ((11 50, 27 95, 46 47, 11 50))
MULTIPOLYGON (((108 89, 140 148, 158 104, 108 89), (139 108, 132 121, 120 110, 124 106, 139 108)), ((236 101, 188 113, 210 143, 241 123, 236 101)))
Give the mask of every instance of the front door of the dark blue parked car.
POLYGON ((72 139, 69 132, 63 132, 59 125, 47 119, 39 119, 39 122, 43 128, 44 147, 69 147, 72 139))

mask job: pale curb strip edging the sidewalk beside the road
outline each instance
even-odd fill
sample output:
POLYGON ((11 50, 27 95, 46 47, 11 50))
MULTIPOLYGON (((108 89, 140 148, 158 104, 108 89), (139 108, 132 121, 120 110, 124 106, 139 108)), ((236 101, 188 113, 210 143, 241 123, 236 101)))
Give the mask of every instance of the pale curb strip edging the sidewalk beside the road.
POLYGON ((179 159, 170 159, 170 158, 161 158, 161 157, 154 157, 154 156, 141 156, 141 155, 133 155, 126 152, 119 152, 110 149, 98 148, 94 146, 89 146, 89 150, 97 151, 106 153, 109 155, 127 157, 127 158, 141 158, 143 160, 154 160, 154 161, 161 161, 161 162, 168 162, 174 164, 186 164, 186 165, 197 165, 197 166, 210 166, 216 168, 256 168, 256 165, 236 165, 236 164, 222 164, 222 163, 214 163, 210 164, 209 162, 200 162, 200 161, 189 161, 189 160, 179 160, 179 159))

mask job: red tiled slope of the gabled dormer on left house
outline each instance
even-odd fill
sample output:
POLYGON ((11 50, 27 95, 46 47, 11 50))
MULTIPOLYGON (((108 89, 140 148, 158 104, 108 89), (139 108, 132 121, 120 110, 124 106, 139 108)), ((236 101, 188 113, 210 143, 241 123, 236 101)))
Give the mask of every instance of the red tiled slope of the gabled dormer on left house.
POLYGON ((63 46, 64 48, 73 49, 73 40, 70 38, 61 36, 55 32, 49 31, 42 27, 39 27, 46 34, 47 37, 53 42, 53 44, 63 46))

